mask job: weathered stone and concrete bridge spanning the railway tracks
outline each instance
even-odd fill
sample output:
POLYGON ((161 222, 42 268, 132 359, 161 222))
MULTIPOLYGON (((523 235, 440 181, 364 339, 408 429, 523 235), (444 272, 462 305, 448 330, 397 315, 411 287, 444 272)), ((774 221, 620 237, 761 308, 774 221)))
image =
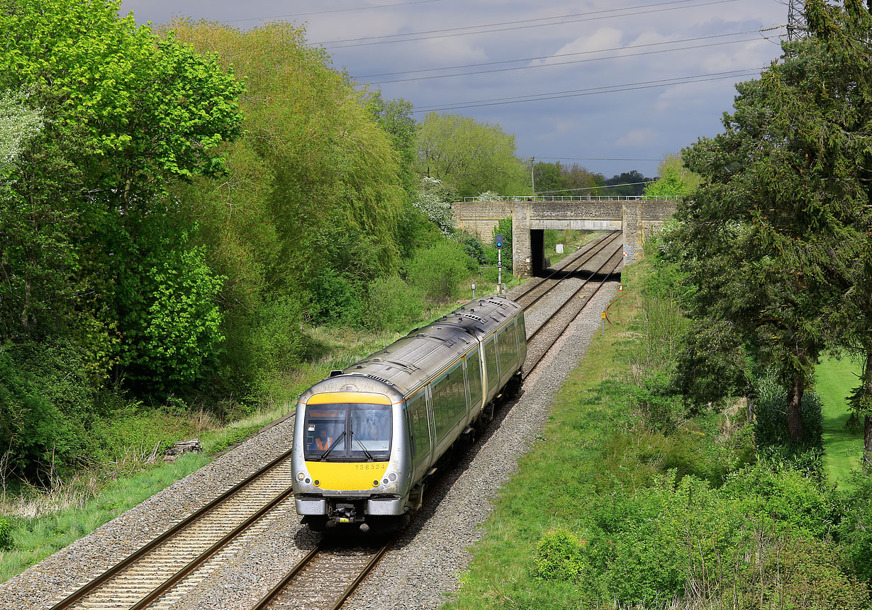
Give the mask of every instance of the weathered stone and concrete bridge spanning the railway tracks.
POLYGON ((514 274, 528 277, 545 267, 545 229, 623 231, 627 262, 638 259, 646 235, 656 234, 675 214, 680 199, 669 196, 626 197, 467 197, 452 204, 456 226, 494 242, 494 227, 512 218, 514 274))

